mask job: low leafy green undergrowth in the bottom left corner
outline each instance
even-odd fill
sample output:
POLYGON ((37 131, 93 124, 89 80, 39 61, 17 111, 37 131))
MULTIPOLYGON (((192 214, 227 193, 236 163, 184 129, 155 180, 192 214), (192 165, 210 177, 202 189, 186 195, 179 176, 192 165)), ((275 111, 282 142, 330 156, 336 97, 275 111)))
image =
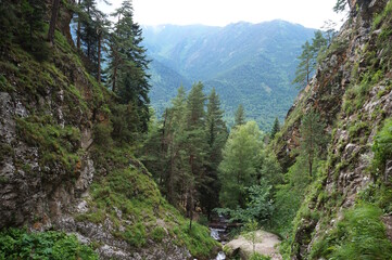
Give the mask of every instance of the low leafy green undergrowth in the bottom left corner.
POLYGON ((91 247, 81 245, 75 235, 47 231, 28 233, 9 229, 0 232, 0 259, 99 259, 91 247))

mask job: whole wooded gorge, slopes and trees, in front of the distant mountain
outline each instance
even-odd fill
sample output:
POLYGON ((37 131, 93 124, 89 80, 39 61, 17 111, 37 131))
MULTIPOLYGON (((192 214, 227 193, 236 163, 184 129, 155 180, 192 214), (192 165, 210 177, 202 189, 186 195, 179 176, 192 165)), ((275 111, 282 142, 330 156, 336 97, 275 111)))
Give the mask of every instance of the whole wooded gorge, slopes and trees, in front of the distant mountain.
POLYGON ((0 4, 0 259, 391 258, 391 1, 337 1, 270 131, 202 81, 154 112, 130 0, 0 4))

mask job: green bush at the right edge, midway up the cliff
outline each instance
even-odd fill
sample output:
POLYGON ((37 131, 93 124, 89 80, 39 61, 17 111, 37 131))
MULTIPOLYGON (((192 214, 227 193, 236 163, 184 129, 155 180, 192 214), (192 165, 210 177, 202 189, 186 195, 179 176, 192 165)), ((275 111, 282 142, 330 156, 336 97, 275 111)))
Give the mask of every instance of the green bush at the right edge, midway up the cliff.
POLYGON ((387 160, 392 158, 392 119, 384 121, 382 129, 375 136, 372 145, 375 153, 374 168, 377 172, 383 172, 387 160))

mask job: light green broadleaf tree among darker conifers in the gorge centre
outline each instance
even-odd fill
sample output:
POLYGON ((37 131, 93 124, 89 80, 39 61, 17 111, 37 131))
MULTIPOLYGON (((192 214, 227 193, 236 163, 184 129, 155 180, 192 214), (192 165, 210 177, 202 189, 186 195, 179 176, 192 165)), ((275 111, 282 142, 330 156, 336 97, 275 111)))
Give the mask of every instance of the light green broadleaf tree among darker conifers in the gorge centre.
POLYGON ((218 176, 222 183, 219 200, 224 207, 235 209, 245 206, 245 187, 256 181, 262 147, 262 132, 255 121, 230 132, 223 150, 218 176))

